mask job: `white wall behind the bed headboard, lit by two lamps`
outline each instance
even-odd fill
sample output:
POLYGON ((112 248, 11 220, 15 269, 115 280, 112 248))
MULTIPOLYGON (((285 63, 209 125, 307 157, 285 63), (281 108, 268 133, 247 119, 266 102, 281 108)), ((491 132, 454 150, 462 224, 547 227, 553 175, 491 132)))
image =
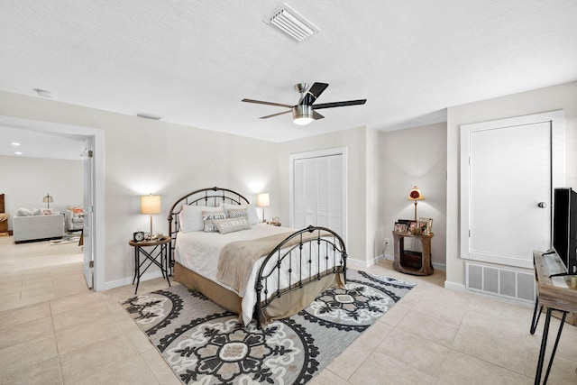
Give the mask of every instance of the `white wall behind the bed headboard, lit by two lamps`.
MULTIPOLYGON (((141 195, 160 194, 162 213, 153 216, 154 232, 166 233, 169 206, 197 188, 232 188, 250 200, 258 192, 272 197, 279 190, 276 143, 7 92, 0 92, 0 115, 104 132, 105 207, 96 207, 105 211, 101 289, 132 282, 128 241, 136 229, 150 226, 149 217, 140 214, 141 195)), ((267 216, 278 216, 279 202, 271 198, 270 205, 267 216)))

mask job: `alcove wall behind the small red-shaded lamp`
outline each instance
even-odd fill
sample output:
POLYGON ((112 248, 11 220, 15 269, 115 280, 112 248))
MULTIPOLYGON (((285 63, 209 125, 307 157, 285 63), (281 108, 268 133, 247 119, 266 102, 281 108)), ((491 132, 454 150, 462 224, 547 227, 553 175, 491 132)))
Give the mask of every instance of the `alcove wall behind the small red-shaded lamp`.
MULTIPOLYGON (((415 206, 408 193, 417 186, 425 200, 417 205, 418 217, 433 218, 431 255, 435 267, 446 254, 446 124, 431 124, 380 133, 380 222, 375 252, 392 256, 392 230, 398 219, 413 219, 415 206)), ((407 242, 407 241, 406 241, 407 242)))

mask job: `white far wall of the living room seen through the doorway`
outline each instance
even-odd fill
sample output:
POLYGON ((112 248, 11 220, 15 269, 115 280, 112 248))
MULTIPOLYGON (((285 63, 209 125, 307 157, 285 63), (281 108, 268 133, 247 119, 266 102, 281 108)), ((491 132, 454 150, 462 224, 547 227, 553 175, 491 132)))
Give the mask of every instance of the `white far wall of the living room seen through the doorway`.
POLYGON ((0 194, 5 194, 5 212, 12 217, 21 208, 46 208, 42 198, 50 193, 52 211, 64 213, 68 206, 82 205, 83 162, 0 156, 0 194))

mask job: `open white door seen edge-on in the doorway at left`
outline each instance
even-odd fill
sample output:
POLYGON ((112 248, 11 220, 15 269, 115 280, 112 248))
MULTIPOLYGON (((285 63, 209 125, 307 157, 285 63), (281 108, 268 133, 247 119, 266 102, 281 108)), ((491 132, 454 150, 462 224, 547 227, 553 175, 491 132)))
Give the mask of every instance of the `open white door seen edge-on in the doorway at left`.
POLYGON ((84 247, 84 276, 88 288, 93 287, 94 271, 94 137, 87 136, 84 142, 84 227, 82 243, 84 247))

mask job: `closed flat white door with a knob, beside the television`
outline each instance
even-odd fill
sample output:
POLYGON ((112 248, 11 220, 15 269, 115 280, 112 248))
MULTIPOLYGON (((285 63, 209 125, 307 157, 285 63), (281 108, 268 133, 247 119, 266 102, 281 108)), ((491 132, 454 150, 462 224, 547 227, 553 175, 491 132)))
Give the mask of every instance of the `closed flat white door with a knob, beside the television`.
POLYGON ((554 132, 538 120, 462 127, 462 258, 531 269, 549 249, 554 132))

